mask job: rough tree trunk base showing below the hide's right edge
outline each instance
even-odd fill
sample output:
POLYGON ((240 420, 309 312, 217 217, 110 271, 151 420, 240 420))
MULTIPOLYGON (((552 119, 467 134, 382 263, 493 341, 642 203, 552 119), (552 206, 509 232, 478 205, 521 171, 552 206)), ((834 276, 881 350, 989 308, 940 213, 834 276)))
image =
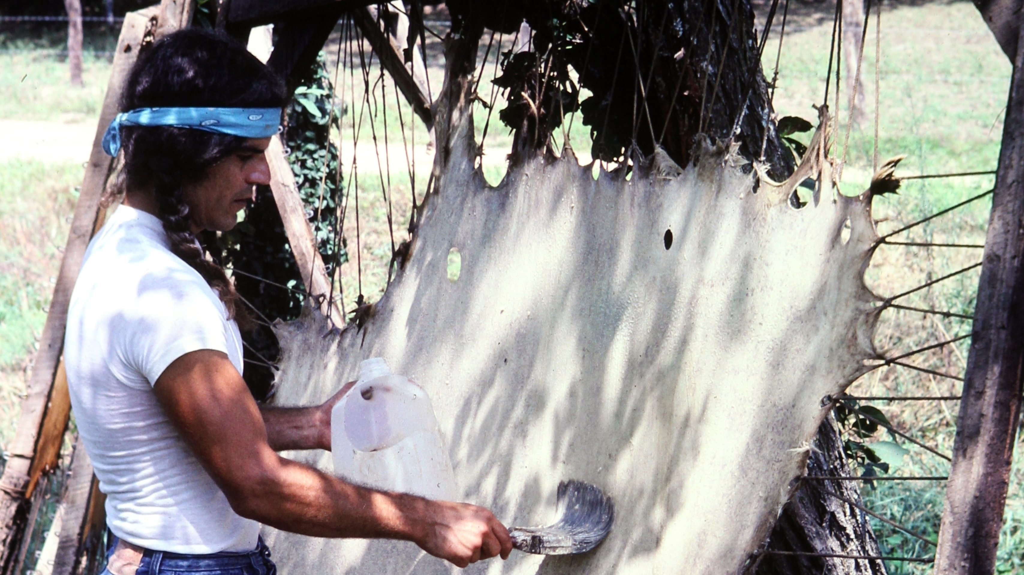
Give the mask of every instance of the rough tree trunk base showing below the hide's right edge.
MULTIPOLYGON (((831 415, 821 423, 807 461, 808 476, 849 476, 843 440, 831 415)), ((879 557, 879 543, 866 515, 843 501, 858 504, 857 483, 853 481, 804 480, 790 502, 782 507, 767 552, 759 557, 756 575, 883 575, 880 560, 821 558, 798 554, 830 554, 879 557), (834 495, 835 494, 835 495, 834 495)))

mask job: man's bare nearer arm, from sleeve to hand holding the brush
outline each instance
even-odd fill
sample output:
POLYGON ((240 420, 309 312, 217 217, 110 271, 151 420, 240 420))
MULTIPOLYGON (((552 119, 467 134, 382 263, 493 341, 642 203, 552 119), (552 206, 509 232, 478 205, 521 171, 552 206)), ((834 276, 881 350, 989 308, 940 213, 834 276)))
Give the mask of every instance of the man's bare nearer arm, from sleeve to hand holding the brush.
POLYGON ((366 489, 278 455, 256 402, 221 352, 179 357, 154 391, 243 517, 315 537, 406 539, 460 567, 511 551, 508 531, 487 510, 366 489))

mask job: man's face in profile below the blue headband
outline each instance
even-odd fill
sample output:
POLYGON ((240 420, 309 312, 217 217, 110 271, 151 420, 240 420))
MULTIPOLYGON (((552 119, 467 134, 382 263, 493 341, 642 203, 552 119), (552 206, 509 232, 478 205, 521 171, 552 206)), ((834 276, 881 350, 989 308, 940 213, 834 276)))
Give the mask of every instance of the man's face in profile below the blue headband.
POLYGON ((185 188, 194 232, 234 227, 239 211, 255 193, 254 186, 270 183, 270 167, 263 156, 269 144, 270 138, 246 140, 240 149, 207 170, 201 181, 185 188))

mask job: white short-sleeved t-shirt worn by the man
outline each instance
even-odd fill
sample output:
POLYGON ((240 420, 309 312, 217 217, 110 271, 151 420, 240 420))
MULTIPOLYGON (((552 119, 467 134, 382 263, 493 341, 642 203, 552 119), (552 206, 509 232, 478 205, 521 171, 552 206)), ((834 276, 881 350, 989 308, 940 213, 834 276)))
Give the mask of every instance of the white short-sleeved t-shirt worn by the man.
POLYGON ((78 433, 115 535, 177 554, 251 550, 259 524, 231 510, 153 392, 196 350, 224 352, 242 372, 238 325, 168 248, 160 220, 127 206, 89 242, 65 335, 78 433))

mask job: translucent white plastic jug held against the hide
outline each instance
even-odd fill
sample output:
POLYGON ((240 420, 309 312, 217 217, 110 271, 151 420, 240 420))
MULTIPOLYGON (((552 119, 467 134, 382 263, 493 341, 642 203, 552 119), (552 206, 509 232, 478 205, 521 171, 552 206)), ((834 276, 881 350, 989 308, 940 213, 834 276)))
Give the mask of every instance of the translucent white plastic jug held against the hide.
POLYGON ((421 495, 456 496, 455 473, 427 393, 374 357, 331 411, 334 473, 350 481, 421 495))

